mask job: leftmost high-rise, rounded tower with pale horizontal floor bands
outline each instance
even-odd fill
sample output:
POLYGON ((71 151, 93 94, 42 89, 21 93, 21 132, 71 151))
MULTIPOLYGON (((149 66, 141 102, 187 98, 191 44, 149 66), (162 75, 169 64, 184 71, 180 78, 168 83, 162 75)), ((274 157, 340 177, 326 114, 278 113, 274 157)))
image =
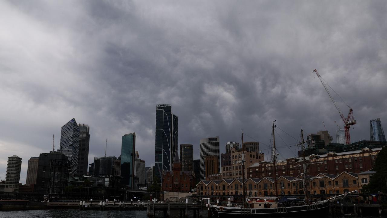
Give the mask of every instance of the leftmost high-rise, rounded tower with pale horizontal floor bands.
POLYGON ((5 174, 5 192, 18 192, 22 159, 19 156, 8 157, 7 173, 5 174))

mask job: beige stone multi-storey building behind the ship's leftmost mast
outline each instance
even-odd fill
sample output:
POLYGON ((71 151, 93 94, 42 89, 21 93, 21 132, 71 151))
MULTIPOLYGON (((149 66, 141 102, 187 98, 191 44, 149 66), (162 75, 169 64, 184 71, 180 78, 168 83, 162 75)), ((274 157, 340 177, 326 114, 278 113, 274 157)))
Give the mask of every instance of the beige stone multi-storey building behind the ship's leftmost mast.
POLYGON ((235 148, 231 148, 230 153, 221 154, 221 164, 222 164, 222 178, 224 179, 235 179, 235 178, 243 178, 243 170, 241 161, 244 159, 245 162, 245 178, 247 176, 247 167, 252 165, 253 163, 259 163, 264 161, 265 155, 262 153, 253 150, 252 147, 244 148, 245 151, 239 150, 237 151, 235 148), (244 157, 243 157, 244 156, 244 157))

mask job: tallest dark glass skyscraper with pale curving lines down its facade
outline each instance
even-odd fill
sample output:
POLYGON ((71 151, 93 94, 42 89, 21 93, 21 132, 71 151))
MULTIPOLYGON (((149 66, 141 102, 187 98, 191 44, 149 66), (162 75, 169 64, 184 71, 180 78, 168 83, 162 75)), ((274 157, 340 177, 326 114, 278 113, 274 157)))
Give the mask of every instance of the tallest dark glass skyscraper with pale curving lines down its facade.
POLYGON ((178 117, 172 114, 171 105, 156 105, 155 176, 163 179, 163 170, 172 170, 177 150, 178 117))

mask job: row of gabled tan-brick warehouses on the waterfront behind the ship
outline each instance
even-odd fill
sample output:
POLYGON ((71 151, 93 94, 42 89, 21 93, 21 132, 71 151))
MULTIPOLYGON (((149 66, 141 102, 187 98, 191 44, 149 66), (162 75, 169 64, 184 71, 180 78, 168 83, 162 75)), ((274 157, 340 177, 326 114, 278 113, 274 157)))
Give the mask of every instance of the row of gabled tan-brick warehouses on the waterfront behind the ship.
MULTIPOLYGON (((307 175, 307 192, 315 196, 335 194, 343 194, 359 190, 366 185, 370 179, 370 174, 374 171, 368 171, 360 174, 342 172, 339 175, 327 173, 319 173, 316 176, 307 175)), ((278 194, 283 195, 303 195, 303 174, 296 177, 280 176, 277 178, 278 194)), ((202 180, 196 188, 196 194, 199 196, 241 196, 242 192, 241 179, 223 179, 223 180, 202 180)), ((249 178, 245 180, 245 194, 247 196, 273 196, 274 179, 269 177, 264 178, 249 178)))

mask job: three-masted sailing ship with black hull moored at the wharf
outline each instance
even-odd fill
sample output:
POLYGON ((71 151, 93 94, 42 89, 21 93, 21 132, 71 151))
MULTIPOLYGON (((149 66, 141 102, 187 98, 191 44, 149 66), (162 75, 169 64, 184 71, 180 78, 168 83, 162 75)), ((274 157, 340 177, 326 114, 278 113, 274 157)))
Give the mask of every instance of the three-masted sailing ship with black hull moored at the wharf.
MULTIPOLYGON (((273 159, 273 168, 274 168, 274 181, 277 180, 276 178, 276 142, 274 137, 274 127, 276 125, 272 125, 272 159, 273 159)), ((305 141, 303 138, 303 130, 301 128, 301 142, 298 145, 302 146, 303 149, 303 189, 305 194, 305 200, 301 205, 296 206, 287 206, 283 202, 279 201, 278 198, 278 189, 277 189, 277 182, 274 182, 274 189, 275 189, 275 197, 249 197, 249 199, 245 196, 245 191, 243 190, 243 205, 237 205, 232 206, 231 201, 228 202, 227 206, 220 206, 220 205, 209 205, 212 215, 214 217, 230 217, 230 216, 239 216, 239 217, 248 217, 248 218, 254 218, 254 217, 260 217, 262 215, 264 216, 319 216, 319 215, 326 215, 329 209, 329 202, 335 201, 339 197, 345 197, 347 194, 356 192, 348 192, 339 196, 335 196, 329 199, 326 199, 324 201, 315 201, 310 202, 308 200, 308 194, 307 194, 307 170, 306 170, 306 164, 305 164, 305 141)), ((243 131, 242 131, 242 145, 243 145, 243 131)), ((242 156, 243 157, 243 156, 242 156)), ((245 178, 244 178, 244 159, 242 158, 241 164, 243 164, 242 167, 242 175, 243 175, 243 187, 245 187, 245 178)))

